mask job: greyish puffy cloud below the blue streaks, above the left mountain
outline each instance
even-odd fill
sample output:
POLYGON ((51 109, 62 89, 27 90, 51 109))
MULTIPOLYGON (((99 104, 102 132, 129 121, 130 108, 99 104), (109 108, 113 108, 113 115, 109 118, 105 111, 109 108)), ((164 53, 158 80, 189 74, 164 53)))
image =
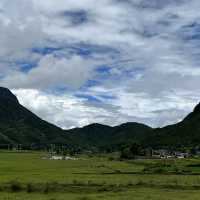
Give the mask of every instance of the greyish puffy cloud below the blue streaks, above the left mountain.
POLYGON ((84 60, 79 56, 66 59, 47 55, 28 73, 14 71, 1 84, 10 88, 44 89, 56 85, 79 88, 92 77, 96 64, 97 62, 84 60))

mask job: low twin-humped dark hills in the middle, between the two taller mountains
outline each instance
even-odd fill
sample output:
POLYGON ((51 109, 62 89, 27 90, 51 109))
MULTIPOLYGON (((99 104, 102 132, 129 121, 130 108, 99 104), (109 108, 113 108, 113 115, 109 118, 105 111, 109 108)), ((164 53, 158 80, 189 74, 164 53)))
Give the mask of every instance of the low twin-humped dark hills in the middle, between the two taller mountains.
POLYGON ((102 124, 90 124, 83 128, 66 131, 75 144, 91 148, 118 149, 120 145, 140 141, 151 128, 139 123, 126 123, 110 127, 102 124))

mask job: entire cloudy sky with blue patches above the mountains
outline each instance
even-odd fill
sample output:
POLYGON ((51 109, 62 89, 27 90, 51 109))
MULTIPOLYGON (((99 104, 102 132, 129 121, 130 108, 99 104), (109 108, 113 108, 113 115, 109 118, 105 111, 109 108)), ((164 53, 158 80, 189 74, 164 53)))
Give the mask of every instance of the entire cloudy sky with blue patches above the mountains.
POLYGON ((0 86, 62 128, 162 127, 200 101, 199 0, 0 0, 0 86))

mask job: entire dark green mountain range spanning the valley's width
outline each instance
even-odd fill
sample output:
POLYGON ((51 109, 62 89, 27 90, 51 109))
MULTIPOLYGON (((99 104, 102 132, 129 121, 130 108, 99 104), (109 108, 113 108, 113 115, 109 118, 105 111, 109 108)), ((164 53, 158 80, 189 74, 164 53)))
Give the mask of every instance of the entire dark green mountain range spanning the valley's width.
POLYGON ((0 144, 63 144, 113 150, 132 142, 152 148, 198 146, 200 104, 181 122, 164 128, 129 122, 115 127, 90 124, 63 130, 39 118, 22 106, 9 89, 0 87, 0 144))

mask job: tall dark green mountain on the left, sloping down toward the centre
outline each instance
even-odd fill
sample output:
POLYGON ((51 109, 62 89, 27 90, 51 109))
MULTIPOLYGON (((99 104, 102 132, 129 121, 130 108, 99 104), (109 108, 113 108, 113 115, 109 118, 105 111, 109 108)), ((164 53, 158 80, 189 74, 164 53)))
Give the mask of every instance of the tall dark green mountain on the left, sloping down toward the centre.
POLYGON ((19 104, 8 89, 0 88, 0 144, 67 143, 63 130, 40 119, 19 104))

